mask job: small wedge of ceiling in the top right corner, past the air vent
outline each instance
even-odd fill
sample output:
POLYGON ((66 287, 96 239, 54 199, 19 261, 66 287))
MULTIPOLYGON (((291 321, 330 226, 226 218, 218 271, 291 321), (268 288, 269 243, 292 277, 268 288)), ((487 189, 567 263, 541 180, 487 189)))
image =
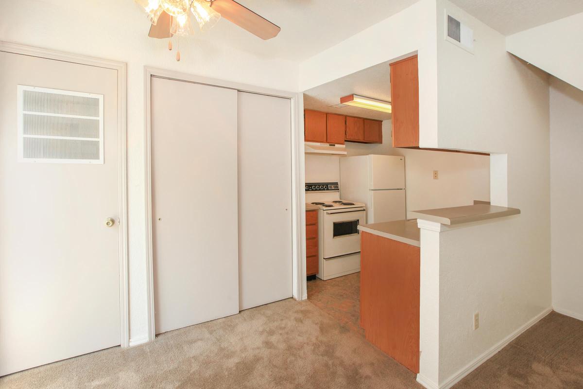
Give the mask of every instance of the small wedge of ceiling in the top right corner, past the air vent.
POLYGON ((583 0, 451 0, 451 2, 504 35, 583 12, 583 0))

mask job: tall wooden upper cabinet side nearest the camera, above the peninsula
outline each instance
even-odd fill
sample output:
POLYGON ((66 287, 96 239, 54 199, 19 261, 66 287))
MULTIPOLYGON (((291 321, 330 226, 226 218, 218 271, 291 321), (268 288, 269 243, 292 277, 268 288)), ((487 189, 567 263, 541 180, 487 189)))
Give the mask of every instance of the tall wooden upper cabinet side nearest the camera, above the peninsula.
POLYGON ((393 147, 419 147, 417 55, 391 64, 393 147))

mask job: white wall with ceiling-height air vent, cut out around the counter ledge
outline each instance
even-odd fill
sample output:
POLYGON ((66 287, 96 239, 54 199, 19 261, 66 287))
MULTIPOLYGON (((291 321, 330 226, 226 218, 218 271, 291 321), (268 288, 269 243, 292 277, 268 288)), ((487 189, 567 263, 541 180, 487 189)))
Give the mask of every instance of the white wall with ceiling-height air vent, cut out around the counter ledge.
POLYGON ((491 191, 507 188, 508 206, 522 211, 442 233, 438 380, 444 383, 551 306, 549 79, 508 54, 497 31, 447 0, 437 5, 438 145, 507 154, 507 166, 491 174, 491 191), (445 9, 473 28, 475 54, 444 40, 445 9), (479 331, 472 330, 475 311, 479 331))

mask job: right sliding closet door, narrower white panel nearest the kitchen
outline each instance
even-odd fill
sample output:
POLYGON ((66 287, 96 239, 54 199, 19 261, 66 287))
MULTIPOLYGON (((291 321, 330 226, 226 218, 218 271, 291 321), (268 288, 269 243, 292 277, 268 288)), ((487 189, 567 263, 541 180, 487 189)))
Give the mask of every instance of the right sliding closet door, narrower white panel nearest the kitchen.
POLYGON ((240 309, 291 297, 290 100, 238 92, 240 309))

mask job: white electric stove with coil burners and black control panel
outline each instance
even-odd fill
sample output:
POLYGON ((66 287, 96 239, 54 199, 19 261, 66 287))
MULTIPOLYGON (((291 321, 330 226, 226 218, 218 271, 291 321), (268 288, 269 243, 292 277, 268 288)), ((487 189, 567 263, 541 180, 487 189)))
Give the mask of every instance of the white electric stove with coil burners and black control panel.
POLYGON ((305 184, 305 201, 318 210, 318 274, 331 279, 360 271, 360 233, 366 223, 361 202, 340 199, 338 183, 305 184))

